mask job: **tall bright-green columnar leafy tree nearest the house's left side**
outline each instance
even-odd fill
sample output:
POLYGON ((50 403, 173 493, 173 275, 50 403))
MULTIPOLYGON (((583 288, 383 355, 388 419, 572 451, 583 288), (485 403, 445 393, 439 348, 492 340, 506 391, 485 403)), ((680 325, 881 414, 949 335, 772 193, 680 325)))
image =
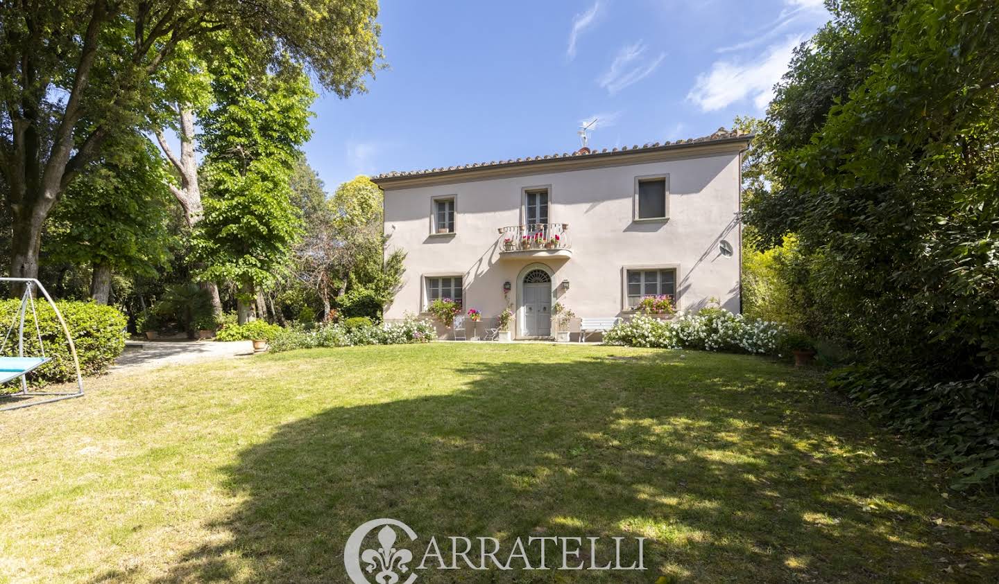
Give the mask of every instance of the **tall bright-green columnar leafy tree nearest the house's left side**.
POLYGON ((228 51, 213 68, 216 105, 202 118, 201 137, 210 197, 194 257, 206 267, 202 279, 237 284, 242 323, 260 289, 287 268, 299 237, 290 179, 315 94, 293 63, 271 73, 228 51))

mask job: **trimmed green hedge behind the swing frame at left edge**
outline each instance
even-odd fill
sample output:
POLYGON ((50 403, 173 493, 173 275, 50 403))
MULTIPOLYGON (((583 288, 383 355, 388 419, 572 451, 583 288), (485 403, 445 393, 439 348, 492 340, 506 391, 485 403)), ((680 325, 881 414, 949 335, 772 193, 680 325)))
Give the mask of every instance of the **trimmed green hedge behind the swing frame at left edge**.
MULTIPOLYGON (((77 358, 80 360, 80 371, 84 375, 93 375, 107 370, 115 358, 125 349, 125 325, 127 319, 113 306, 95 304, 93 302, 58 302, 73 335, 77 358)), ((21 307, 21 300, 9 299, 0 301, 0 334, 15 319, 21 307)), ((55 311, 47 302, 36 303, 38 312, 38 328, 42 333, 42 343, 46 356, 52 360, 28 374, 28 382, 46 384, 62 381, 75 381, 76 370, 73 368, 73 357, 70 355, 66 335, 59 325, 55 311)), ((4 346, 4 356, 17 355, 17 325, 11 330, 4 346)), ((38 346, 38 335, 35 330, 35 318, 29 309, 24 319, 24 354, 41 355, 38 346)))

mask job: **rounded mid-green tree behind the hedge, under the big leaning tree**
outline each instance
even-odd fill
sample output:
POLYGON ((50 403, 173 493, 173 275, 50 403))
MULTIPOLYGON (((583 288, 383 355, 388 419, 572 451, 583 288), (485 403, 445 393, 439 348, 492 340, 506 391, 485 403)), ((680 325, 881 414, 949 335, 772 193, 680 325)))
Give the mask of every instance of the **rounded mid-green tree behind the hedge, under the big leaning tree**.
POLYGON ((47 223, 46 260, 91 266, 91 296, 101 304, 108 303, 113 273, 156 276, 172 242, 163 159, 143 137, 119 142, 70 185, 47 223))

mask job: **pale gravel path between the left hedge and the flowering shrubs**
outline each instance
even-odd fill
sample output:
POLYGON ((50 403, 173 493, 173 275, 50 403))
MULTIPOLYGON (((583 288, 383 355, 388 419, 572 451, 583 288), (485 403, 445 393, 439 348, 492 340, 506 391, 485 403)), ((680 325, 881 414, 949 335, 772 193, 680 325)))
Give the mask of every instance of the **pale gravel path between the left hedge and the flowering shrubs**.
POLYGON ((253 341, 144 340, 129 342, 111 372, 150 369, 253 354, 253 341), (139 346, 141 345, 141 346, 139 346))

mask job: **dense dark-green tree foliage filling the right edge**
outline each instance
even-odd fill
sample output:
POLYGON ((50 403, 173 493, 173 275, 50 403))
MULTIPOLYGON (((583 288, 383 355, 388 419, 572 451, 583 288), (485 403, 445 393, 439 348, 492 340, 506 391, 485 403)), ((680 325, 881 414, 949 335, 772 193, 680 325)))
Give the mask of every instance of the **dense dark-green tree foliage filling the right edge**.
POLYGON ((747 222, 793 234, 804 326, 852 352, 833 378, 921 434, 959 485, 999 478, 999 4, 830 3, 759 142, 747 222))

